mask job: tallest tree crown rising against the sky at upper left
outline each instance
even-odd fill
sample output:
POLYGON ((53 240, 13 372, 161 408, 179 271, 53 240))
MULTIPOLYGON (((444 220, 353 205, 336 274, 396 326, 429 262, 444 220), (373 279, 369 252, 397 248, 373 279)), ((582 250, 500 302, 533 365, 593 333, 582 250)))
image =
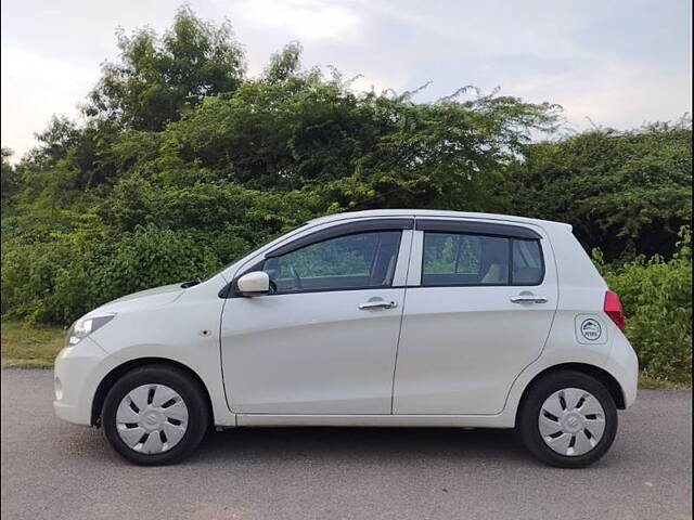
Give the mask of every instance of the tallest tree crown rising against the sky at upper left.
POLYGON ((244 57, 231 25, 215 26, 179 9, 163 36, 152 29, 118 32, 120 61, 106 63, 85 113, 136 130, 162 130, 204 98, 241 84, 244 57))

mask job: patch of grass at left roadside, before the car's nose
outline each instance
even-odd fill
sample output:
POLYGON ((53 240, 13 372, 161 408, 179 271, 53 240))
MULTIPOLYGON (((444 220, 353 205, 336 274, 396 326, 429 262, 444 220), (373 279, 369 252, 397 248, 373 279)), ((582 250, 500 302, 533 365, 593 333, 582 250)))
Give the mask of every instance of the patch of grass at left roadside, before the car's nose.
POLYGON ((62 327, 5 321, 1 327, 3 368, 51 368, 65 340, 62 327))

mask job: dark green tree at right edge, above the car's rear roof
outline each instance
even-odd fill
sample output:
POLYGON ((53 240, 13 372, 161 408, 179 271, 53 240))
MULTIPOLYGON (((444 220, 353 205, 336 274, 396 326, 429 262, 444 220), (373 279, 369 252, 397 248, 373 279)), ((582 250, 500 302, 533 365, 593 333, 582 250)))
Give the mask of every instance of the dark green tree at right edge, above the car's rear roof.
POLYGON ((608 261, 670 256, 692 217, 692 126, 592 130, 530 144, 506 170, 510 210, 574 224, 608 261))

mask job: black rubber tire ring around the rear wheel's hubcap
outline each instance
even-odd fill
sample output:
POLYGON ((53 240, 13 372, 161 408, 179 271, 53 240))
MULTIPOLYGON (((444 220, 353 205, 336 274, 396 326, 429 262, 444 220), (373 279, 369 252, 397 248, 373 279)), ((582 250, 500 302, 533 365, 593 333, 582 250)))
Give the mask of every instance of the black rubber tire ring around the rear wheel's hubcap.
POLYGON ((539 460, 561 468, 581 468, 601 458, 617 434, 617 407, 607 389, 595 378, 574 370, 561 370, 535 381, 527 390, 518 408, 517 430, 520 440, 539 460), (605 430, 597 444, 583 455, 562 455, 547 445, 540 433, 538 419, 544 401, 554 392, 578 388, 590 392, 602 405, 605 412, 605 430))

